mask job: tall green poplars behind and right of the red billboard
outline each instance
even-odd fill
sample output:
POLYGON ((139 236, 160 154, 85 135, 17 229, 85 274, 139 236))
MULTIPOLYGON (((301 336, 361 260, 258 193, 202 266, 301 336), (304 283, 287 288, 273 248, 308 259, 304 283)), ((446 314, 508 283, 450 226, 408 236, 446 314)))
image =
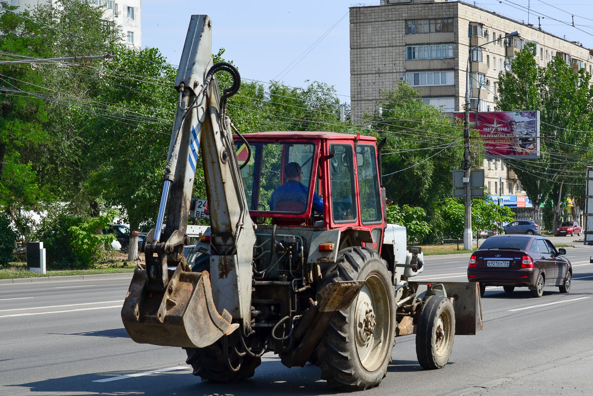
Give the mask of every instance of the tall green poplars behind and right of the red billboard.
POLYGON ((500 110, 540 110, 540 158, 505 159, 517 173, 521 185, 533 202, 533 217, 540 218, 541 204, 550 197, 554 203, 556 229, 567 186, 584 195, 582 175, 585 163, 593 157, 593 142, 582 131, 593 128, 593 90, 591 75, 575 73, 560 56, 546 68, 538 68, 531 43, 517 53, 513 72, 500 75, 500 110))

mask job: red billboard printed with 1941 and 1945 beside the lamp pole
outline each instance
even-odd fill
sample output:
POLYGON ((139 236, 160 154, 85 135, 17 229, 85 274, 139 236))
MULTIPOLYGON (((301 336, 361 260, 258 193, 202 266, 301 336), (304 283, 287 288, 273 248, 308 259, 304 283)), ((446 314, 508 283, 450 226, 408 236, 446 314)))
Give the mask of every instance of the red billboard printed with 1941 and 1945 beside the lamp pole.
MULTIPOLYGON (((454 113, 463 125, 464 113, 454 113)), ((540 157, 540 112, 470 112, 470 128, 478 131, 487 157, 540 157), (477 123, 476 123, 477 117, 477 123)))

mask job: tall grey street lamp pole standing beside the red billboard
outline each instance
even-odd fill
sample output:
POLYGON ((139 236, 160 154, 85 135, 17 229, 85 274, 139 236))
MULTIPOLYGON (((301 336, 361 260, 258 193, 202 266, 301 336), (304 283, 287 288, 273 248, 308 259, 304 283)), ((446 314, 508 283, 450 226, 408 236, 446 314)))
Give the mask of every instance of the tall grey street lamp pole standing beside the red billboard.
MULTIPOLYGON (((473 235, 471 233, 471 183, 470 183, 470 58, 471 54, 474 50, 477 50, 480 47, 483 47, 486 44, 493 43, 498 40, 508 39, 509 37, 518 36, 519 32, 515 30, 512 33, 506 34, 505 37, 500 39, 495 39, 489 41, 487 43, 483 43, 482 45, 471 46, 470 45, 470 54, 467 56, 467 69, 466 69, 466 106, 465 106, 465 119, 464 119, 464 129, 463 129, 463 145, 464 145, 464 154, 463 154, 463 170, 464 178, 463 184, 465 188, 465 207, 466 207, 466 222, 465 227, 463 230, 463 248, 465 250, 471 250, 473 248, 472 240, 473 235)), ((470 39, 471 40, 471 39, 470 39)), ((480 103, 476 104, 476 108, 479 108, 480 103)))

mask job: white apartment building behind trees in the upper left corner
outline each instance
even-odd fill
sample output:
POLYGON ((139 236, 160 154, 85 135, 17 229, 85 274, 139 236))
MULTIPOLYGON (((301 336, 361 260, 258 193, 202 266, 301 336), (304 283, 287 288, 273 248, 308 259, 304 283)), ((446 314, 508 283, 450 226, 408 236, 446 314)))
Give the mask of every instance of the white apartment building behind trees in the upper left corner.
MULTIPOLYGON (((13 5, 18 10, 33 8, 37 4, 49 4, 54 0, 0 0, 1 4, 13 5)), ((130 46, 142 47, 141 6, 142 0, 80 0, 104 7, 103 17, 122 27, 122 42, 130 46)))

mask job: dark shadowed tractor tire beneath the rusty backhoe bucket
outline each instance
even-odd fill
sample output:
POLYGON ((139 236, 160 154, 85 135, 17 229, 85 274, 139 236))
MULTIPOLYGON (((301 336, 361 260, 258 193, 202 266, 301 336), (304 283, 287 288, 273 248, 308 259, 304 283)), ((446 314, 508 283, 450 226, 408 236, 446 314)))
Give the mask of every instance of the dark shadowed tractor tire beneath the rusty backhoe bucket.
MULTIPOLYGON (((240 331, 240 330, 237 330, 240 331)), ((228 367, 227 355, 223 352, 224 342, 218 340, 216 343, 205 348, 186 348, 186 363, 192 365, 193 375, 202 378, 202 381, 211 382, 237 382, 250 378, 255 373, 257 366, 262 364, 261 357, 237 356, 234 353, 235 345, 231 343, 234 337, 229 336, 228 356, 231 356, 230 365, 236 370, 228 367)))

